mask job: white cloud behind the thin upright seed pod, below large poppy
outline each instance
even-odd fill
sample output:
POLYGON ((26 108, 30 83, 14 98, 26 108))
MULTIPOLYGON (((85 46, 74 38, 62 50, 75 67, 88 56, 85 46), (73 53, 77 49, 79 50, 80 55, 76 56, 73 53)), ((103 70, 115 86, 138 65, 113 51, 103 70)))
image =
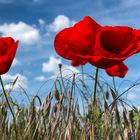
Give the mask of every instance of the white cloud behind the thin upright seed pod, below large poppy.
MULTIPOLYGON (((54 75, 53 77, 56 77, 59 74, 59 64, 62 64, 62 60, 51 56, 47 62, 42 64, 42 71, 50 72, 54 75)), ((65 64, 62 64, 62 71, 63 77, 72 76, 73 73, 80 73, 77 68, 65 64)))

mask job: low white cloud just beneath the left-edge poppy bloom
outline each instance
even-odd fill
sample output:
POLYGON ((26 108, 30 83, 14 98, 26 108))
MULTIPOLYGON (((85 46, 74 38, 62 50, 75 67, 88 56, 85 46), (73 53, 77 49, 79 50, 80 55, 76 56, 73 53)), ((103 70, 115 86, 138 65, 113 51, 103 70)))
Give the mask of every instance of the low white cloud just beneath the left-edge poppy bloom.
POLYGON ((22 88, 27 88, 27 78, 19 73, 15 74, 15 75, 10 75, 10 74, 4 74, 2 75, 2 80, 5 82, 8 82, 8 84, 5 85, 5 88, 7 90, 10 90, 12 88, 12 84, 14 82, 14 80, 17 79, 15 85, 14 85, 14 89, 20 89, 20 86, 22 88), (10 84, 9 84, 10 83, 10 84))

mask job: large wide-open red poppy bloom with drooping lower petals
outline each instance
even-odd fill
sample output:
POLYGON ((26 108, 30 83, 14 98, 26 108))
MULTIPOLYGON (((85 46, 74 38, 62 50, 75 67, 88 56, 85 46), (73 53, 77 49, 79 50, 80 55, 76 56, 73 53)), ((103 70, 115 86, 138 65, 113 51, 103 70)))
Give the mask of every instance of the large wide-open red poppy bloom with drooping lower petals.
POLYGON ((73 66, 87 62, 103 68, 110 76, 124 77, 125 59, 140 51, 140 32, 127 26, 100 26, 86 16, 73 27, 60 31, 54 41, 56 52, 73 66))

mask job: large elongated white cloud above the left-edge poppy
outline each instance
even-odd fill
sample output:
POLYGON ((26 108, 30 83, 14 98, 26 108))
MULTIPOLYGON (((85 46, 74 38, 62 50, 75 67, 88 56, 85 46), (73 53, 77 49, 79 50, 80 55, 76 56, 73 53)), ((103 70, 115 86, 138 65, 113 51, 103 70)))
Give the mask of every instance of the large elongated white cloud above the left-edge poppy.
POLYGON ((35 44, 40 38, 39 31, 36 28, 22 21, 0 25, 0 33, 2 33, 2 36, 12 36, 27 45, 35 44))

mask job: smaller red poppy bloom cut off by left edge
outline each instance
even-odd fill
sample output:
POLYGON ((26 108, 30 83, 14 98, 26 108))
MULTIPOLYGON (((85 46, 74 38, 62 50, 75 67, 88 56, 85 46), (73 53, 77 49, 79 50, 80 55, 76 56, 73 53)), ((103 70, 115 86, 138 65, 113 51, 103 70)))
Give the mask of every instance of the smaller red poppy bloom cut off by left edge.
POLYGON ((18 41, 11 37, 0 37, 0 74, 5 74, 15 57, 18 41))

